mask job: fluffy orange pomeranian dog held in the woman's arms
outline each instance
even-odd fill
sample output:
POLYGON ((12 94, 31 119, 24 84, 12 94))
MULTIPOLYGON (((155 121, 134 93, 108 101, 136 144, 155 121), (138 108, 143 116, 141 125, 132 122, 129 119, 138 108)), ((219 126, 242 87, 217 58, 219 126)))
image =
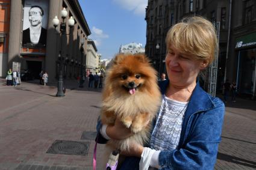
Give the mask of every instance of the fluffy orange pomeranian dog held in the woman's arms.
POLYGON ((145 144, 160 102, 156 71, 149 59, 142 54, 117 55, 105 77, 101 122, 113 125, 118 116, 134 134, 126 139, 110 139, 109 151, 129 150, 134 143, 145 144), (149 124, 143 126, 147 121, 149 124))

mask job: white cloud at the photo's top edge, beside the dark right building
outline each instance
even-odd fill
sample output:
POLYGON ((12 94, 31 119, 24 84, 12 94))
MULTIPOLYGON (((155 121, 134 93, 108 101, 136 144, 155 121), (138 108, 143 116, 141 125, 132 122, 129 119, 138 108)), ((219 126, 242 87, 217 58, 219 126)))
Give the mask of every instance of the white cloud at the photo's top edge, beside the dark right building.
POLYGON ((145 16, 146 6, 148 5, 148 0, 112 0, 116 4, 119 4, 122 8, 128 11, 133 11, 135 14, 145 16))

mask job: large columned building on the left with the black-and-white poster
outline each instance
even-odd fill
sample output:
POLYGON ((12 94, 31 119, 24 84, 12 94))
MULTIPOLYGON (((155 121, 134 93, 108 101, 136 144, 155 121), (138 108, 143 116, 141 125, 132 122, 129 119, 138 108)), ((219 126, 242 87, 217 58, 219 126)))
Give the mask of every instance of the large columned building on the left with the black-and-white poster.
POLYGON ((81 63, 86 55, 80 52, 81 41, 84 39, 83 48, 87 49, 91 32, 78 0, 12 0, 9 32, 7 59, 2 63, 5 70, 18 62, 20 71, 29 70, 34 78, 39 78, 40 71, 45 70, 52 81, 58 77, 60 68, 64 79, 77 77, 80 68, 85 68, 85 59, 81 63), (64 20, 61 19, 63 8, 67 11, 64 20), (66 23, 65 34, 60 34, 60 25, 56 28, 53 25, 55 16, 66 23), (69 28, 71 16, 75 24, 69 28))

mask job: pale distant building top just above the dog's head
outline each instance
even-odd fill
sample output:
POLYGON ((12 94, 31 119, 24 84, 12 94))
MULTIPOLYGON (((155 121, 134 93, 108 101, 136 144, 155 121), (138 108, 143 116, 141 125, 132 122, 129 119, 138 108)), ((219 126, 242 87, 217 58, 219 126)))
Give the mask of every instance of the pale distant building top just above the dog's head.
POLYGON ((119 53, 145 53, 145 48, 143 48, 140 43, 129 43, 121 45, 119 53))

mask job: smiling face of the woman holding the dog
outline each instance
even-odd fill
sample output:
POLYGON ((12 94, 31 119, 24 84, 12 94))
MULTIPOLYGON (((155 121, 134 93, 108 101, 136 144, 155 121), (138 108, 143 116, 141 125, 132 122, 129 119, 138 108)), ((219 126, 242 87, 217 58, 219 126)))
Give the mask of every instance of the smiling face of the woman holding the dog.
POLYGON ((165 61, 170 83, 177 87, 189 87, 196 82, 199 71, 207 67, 206 61, 180 53, 173 46, 169 46, 165 61))

